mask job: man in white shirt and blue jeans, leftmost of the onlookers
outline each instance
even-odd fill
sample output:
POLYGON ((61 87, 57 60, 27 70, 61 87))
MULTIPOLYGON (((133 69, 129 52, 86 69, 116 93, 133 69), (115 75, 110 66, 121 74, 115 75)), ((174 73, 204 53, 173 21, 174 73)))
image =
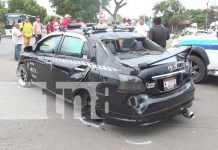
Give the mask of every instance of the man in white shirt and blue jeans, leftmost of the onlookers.
POLYGON ((19 30, 19 24, 15 23, 12 28, 12 40, 15 44, 14 58, 16 61, 20 59, 20 53, 21 53, 22 43, 23 43, 22 36, 23 35, 21 31, 19 30))

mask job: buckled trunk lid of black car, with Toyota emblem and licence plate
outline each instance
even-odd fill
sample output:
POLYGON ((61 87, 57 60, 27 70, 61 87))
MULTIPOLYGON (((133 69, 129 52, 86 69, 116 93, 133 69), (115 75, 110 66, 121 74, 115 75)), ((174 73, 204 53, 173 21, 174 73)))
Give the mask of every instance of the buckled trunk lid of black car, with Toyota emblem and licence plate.
POLYGON ((190 49, 190 46, 184 46, 170 53, 123 60, 122 63, 140 68, 137 76, 143 80, 148 95, 166 94, 182 87, 190 79, 187 62, 176 58, 180 53, 188 55, 190 49))

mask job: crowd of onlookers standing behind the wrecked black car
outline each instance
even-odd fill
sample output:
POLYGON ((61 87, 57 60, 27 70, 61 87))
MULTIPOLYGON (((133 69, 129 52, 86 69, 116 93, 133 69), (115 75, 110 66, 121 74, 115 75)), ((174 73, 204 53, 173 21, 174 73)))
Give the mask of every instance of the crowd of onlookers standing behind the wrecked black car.
MULTIPOLYGON (((72 17, 69 14, 66 14, 63 20, 58 18, 50 19, 46 25, 47 34, 59 30, 68 30, 69 24, 79 24, 82 27, 86 26, 82 19, 72 20, 72 17)), ((161 25, 160 17, 154 18, 153 26, 149 28, 143 17, 140 17, 138 23, 135 25, 132 23, 131 19, 127 19, 126 17, 122 18, 121 23, 118 23, 116 20, 108 23, 103 14, 98 15, 98 23, 96 27, 109 28, 117 25, 121 27, 134 26, 134 32, 141 34, 145 38, 149 38, 163 48, 166 48, 166 41, 170 38, 168 29, 161 25)), ((35 37, 35 43, 37 43, 41 40, 42 35, 43 25, 41 23, 40 16, 36 16, 33 25, 30 23, 28 17, 26 17, 21 24, 15 23, 12 28, 12 39, 15 43, 15 60, 19 60, 22 45, 24 45, 24 47, 29 46, 33 36, 35 37)))

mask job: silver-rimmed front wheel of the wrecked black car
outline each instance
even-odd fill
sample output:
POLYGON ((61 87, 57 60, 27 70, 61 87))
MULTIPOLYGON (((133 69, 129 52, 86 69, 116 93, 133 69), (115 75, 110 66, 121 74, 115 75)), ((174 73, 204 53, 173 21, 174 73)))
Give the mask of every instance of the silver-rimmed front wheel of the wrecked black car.
POLYGON ((27 67, 24 64, 20 64, 17 68, 17 82, 21 87, 28 88, 30 84, 30 75, 27 67))

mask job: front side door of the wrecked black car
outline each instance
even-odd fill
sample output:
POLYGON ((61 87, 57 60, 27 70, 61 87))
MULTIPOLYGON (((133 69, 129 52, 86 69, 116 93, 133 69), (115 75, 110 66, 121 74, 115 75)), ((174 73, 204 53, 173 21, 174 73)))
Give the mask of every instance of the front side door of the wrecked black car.
POLYGON ((52 63, 55 61, 55 55, 62 35, 49 36, 35 48, 36 57, 30 63, 32 72, 35 72, 35 82, 47 83, 50 89, 52 83, 52 63))

